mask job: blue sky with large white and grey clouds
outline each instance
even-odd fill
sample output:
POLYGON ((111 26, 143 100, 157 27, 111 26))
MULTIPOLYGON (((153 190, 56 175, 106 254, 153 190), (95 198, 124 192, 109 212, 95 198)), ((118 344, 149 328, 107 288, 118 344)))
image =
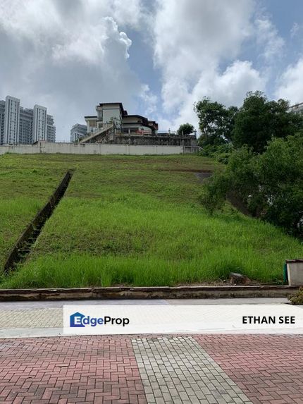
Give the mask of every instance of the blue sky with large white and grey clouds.
POLYGON ((0 0, 0 99, 47 106, 69 141, 100 102, 198 129, 194 103, 303 102, 302 0, 0 0))

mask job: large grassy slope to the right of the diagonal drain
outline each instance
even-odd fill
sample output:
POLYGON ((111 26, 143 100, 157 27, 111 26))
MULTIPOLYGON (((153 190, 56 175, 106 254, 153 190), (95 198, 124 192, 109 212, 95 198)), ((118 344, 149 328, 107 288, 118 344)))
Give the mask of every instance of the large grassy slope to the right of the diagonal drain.
POLYGON ((242 271, 282 278, 299 241, 230 207, 209 216, 197 203, 196 156, 14 157, 31 167, 76 169, 66 197, 30 255, 3 287, 198 283, 242 271))

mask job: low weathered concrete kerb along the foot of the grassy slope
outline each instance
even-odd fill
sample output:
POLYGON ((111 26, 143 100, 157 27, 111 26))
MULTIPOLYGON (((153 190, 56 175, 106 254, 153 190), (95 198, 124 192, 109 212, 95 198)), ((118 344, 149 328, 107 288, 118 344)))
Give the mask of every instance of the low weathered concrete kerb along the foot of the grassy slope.
POLYGON ((0 301, 83 299, 287 298, 299 286, 178 286, 2 289, 0 301))

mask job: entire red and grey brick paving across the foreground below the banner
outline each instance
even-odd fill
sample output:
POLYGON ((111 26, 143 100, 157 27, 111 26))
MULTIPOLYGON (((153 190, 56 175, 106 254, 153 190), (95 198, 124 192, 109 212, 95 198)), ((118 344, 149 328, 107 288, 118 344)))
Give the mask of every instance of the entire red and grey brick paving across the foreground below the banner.
POLYGON ((2 339, 0 402, 303 404, 303 336, 2 339))

